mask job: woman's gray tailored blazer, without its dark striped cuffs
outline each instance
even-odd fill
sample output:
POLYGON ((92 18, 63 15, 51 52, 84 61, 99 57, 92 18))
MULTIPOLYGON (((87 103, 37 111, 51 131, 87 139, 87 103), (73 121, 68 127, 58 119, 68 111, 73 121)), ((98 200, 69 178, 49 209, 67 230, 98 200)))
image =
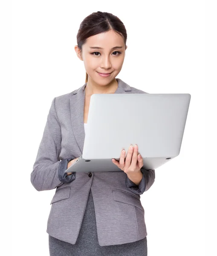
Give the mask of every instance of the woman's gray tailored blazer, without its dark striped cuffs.
MULTIPOLYGON (((145 93, 121 79, 115 93, 145 93)), ((57 239, 75 244, 81 228, 91 189, 99 245, 124 244, 147 236, 144 208, 140 195, 125 184, 127 174, 120 172, 76 173, 76 179, 64 183, 58 179, 61 160, 82 155, 84 147, 84 99, 82 87, 52 100, 43 137, 31 173, 38 191, 55 189, 46 232, 57 239), (133 191, 133 190, 132 190, 133 191)), ((148 183, 154 183, 155 170, 146 170, 148 183)))

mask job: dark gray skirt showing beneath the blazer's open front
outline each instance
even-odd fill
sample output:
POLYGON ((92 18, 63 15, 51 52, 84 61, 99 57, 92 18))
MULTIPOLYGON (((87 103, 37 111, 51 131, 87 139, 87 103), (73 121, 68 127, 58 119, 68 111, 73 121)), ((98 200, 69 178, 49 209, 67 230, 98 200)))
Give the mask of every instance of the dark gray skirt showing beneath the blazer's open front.
POLYGON ((75 244, 49 235, 50 256, 147 256, 147 237, 133 243, 100 246, 98 244, 93 196, 90 194, 75 244))

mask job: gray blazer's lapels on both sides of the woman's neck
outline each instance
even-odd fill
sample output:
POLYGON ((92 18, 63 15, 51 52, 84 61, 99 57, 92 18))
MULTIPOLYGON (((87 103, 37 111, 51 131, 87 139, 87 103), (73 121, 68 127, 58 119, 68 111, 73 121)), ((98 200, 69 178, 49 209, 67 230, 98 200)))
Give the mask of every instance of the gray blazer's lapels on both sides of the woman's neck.
MULTIPOLYGON (((122 81, 119 78, 116 78, 118 82, 118 88, 115 93, 126 93, 126 91, 131 91, 131 88, 128 84, 122 81)), ((73 91, 69 95, 70 100, 70 113, 71 113, 71 122, 72 122, 72 132, 74 134, 75 140, 78 143, 78 147, 83 154, 84 148, 84 101, 85 101, 85 83, 82 87, 73 91)))

